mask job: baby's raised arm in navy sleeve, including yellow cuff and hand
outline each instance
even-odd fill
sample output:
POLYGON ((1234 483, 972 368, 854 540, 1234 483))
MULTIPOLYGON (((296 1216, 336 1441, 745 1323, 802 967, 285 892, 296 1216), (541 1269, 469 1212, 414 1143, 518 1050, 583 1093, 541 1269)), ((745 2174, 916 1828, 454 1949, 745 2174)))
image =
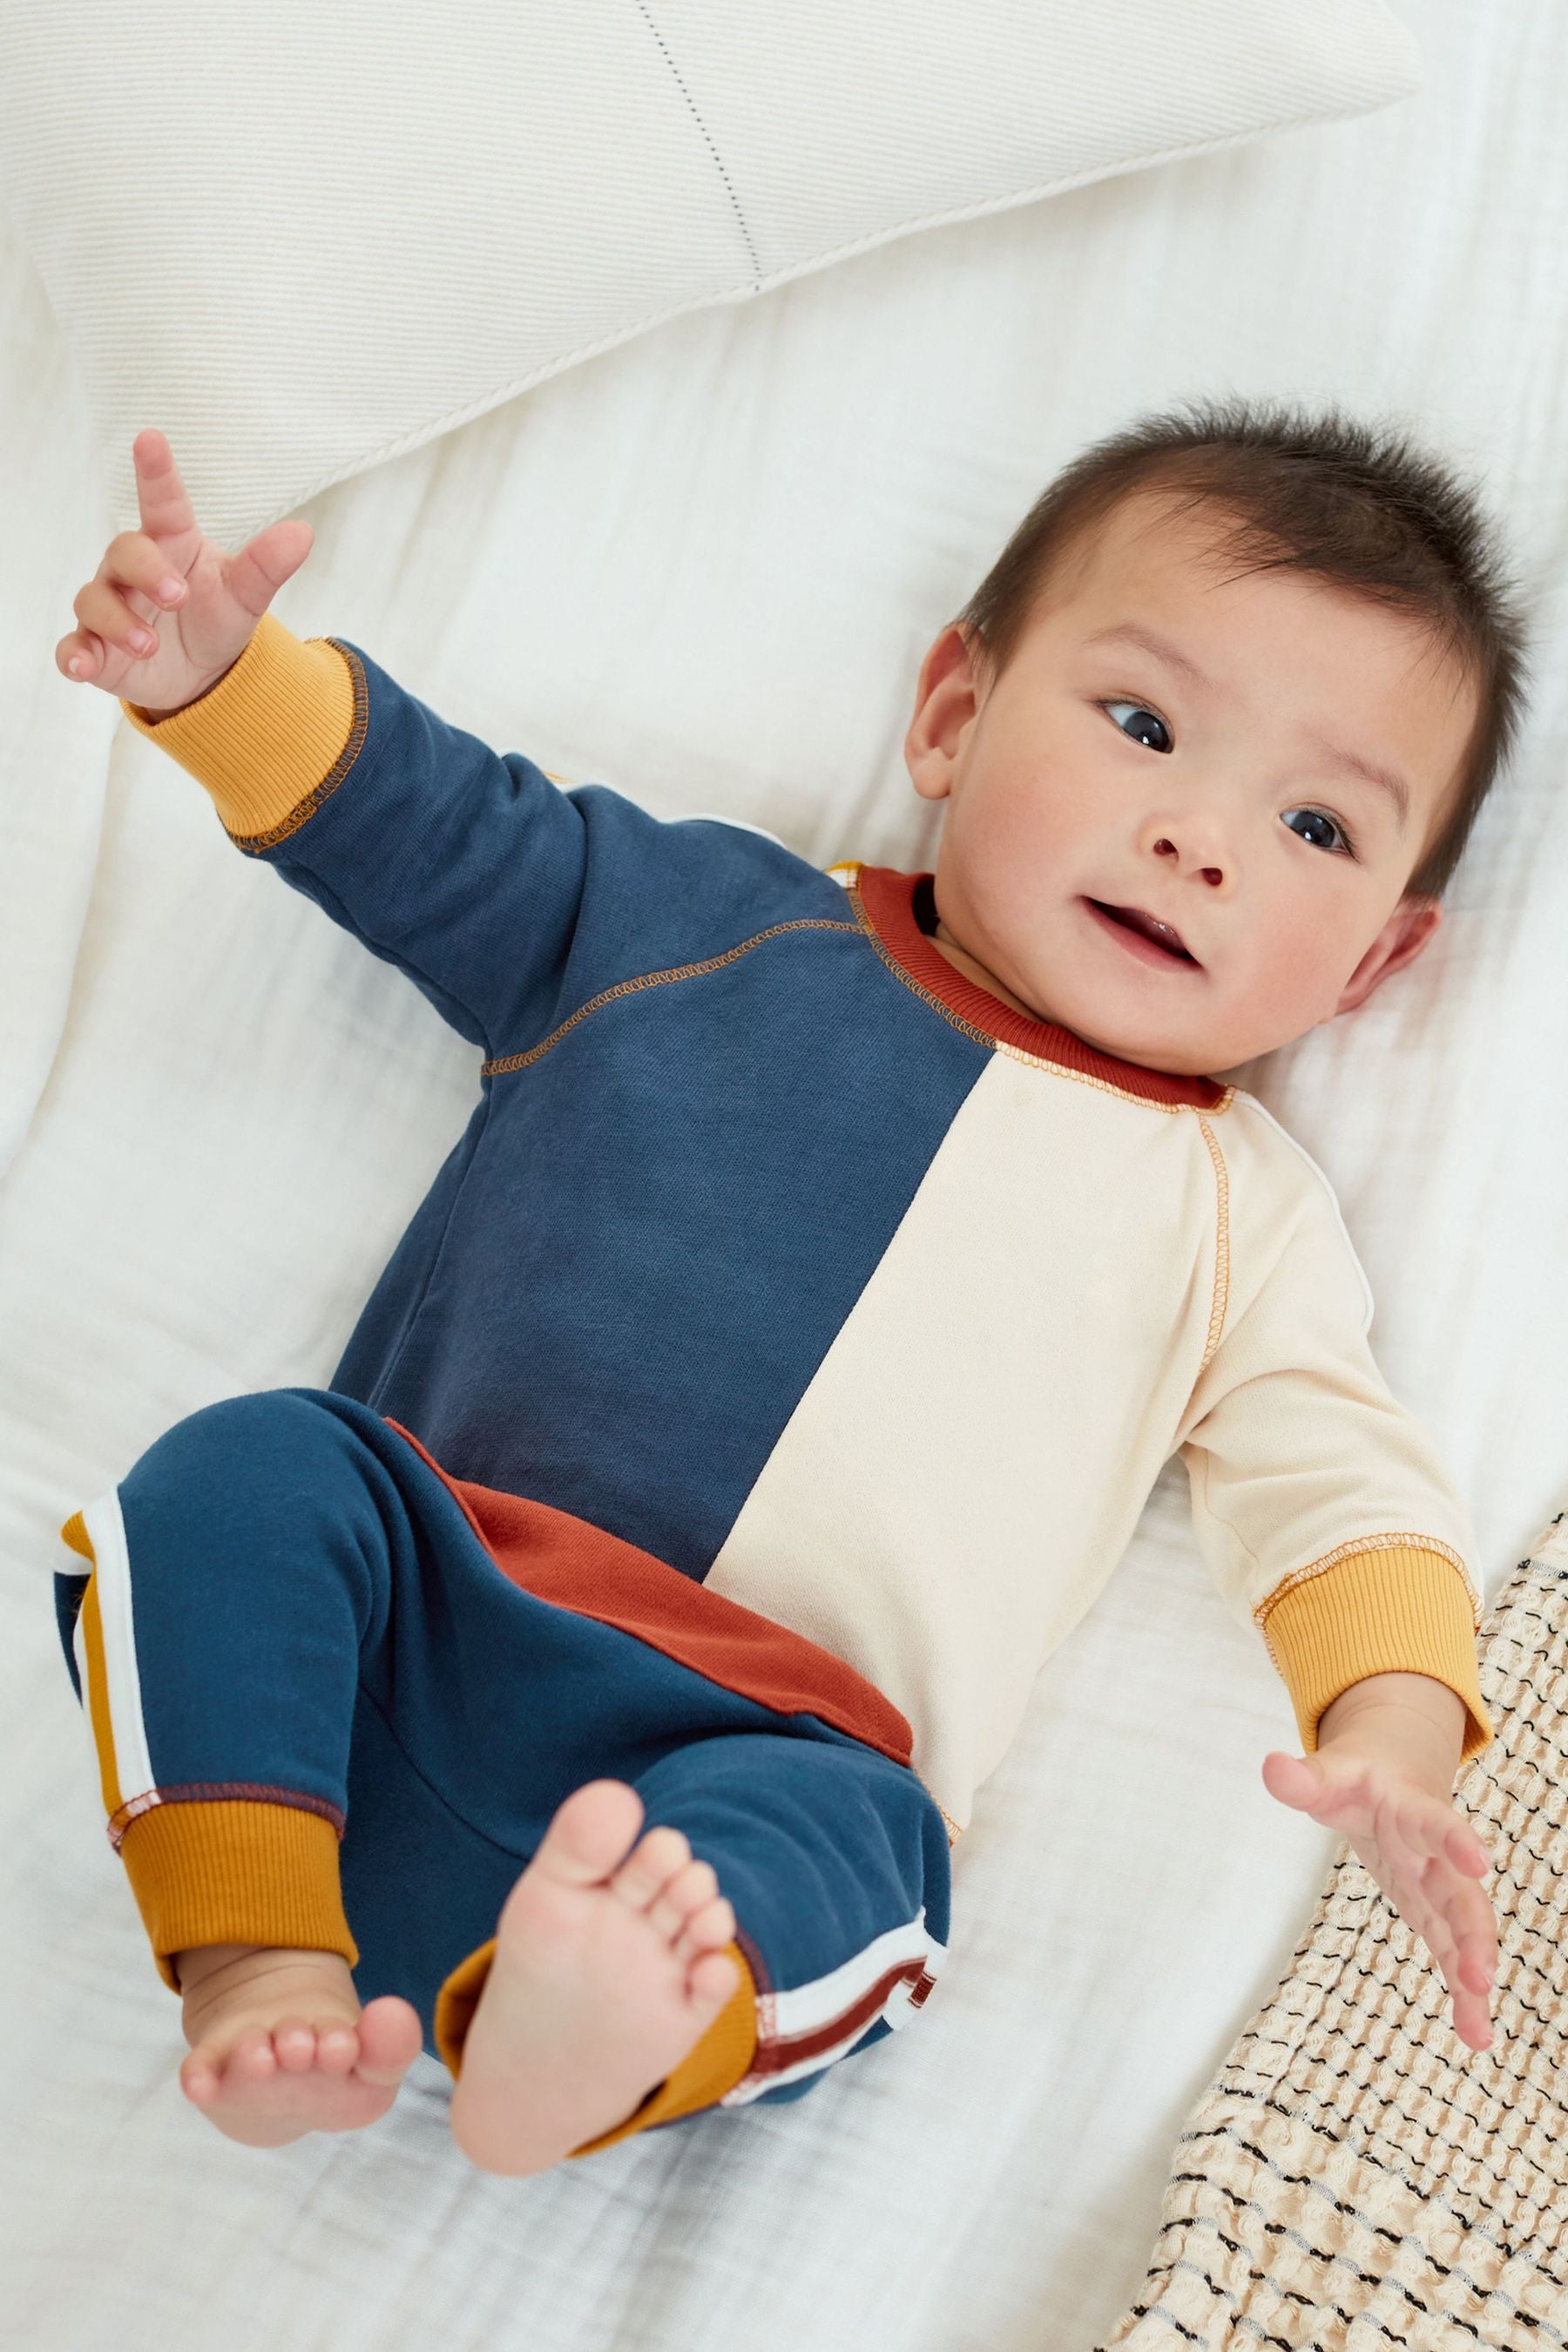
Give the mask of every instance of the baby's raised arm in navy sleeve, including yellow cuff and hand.
POLYGON ((237 849, 397 964, 463 1037, 491 1054, 529 1047, 557 1018, 590 854, 595 875, 611 870, 625 929, 646 863, 625 835, 654 821, 494 753, 357 647, 301 642, 268 604, 310 527, 277 522, 226 555, 197 527, 165 435, 141 433, 134 459, 143 527, 110 541, 56 666, 118 694, 129 724, 209 793, 237 849), (146 659, 143 626, 158 637, 146 659))

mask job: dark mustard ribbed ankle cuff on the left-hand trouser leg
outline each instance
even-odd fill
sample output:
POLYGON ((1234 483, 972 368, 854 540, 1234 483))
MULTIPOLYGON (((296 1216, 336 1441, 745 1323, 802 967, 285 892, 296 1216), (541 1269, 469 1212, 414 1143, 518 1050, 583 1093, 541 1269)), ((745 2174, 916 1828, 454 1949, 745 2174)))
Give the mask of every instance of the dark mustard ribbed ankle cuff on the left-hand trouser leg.
POLYGON ((153 1804, 127 1825, 120 1860, 169 1992, 181 1990, 172 1955, 197 1943, 341 1952, 350 1969, 360 1957, 322 1813, 242 1797, 153 1804))

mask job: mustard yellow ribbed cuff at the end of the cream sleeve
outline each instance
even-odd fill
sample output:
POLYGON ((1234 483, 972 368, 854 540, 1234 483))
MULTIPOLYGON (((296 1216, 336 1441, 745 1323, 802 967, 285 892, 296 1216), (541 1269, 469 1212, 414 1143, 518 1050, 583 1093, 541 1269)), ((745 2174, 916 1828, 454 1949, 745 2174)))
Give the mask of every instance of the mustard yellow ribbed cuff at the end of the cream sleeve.
POLYGON ((1418 1541, 1347 1552, 1265 1604, 1262 1639, 1291 1691, 1307 1755, 1324 1712, 1368 1675, 1432 1675, 1455 1691, 1469 1717, 1462 1764, 1495 1738, 1469 1592, 1446 1552, 1418 1541))

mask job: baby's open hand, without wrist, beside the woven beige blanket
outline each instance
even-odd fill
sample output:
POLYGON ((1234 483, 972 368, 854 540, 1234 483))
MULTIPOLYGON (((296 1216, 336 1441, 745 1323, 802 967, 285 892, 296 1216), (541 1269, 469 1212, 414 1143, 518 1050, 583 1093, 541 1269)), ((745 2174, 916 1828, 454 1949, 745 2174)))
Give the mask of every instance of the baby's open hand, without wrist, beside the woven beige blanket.
POLYGON ((1276 1748, 1262 1759, 1262 1785, 1352 1842, 1443 1971, 1455 2034, 1476 2051, 1488 2049, 1497 1917, 1476 1879, 1493 1860, 1450 1799, 1387 1757, 1356 1752, 1352 1733, 1312 1757, 1276 1748))

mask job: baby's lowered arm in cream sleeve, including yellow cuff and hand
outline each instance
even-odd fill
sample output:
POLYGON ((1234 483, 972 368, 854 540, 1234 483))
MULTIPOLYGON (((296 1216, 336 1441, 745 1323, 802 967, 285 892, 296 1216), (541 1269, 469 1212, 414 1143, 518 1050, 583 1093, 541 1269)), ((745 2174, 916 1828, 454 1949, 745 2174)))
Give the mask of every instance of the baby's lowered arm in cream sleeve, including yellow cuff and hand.
POLYGON ((1371 1291, 1326 1178, 1248 1098, 1237 1110, 1251 1124, 1232 1148, 1227 1322, 1182 1428, 1194 1529, 1295 1708, 1302 1755, 1272 1752, 1265 1788, 1352 1842, 1427 1940, 1455 2032, 1486 2049, 1490 1863, 1453 1804, 1455 1769, 1495 1736, 1474 1526, 1373 1359, 1371 1291))

